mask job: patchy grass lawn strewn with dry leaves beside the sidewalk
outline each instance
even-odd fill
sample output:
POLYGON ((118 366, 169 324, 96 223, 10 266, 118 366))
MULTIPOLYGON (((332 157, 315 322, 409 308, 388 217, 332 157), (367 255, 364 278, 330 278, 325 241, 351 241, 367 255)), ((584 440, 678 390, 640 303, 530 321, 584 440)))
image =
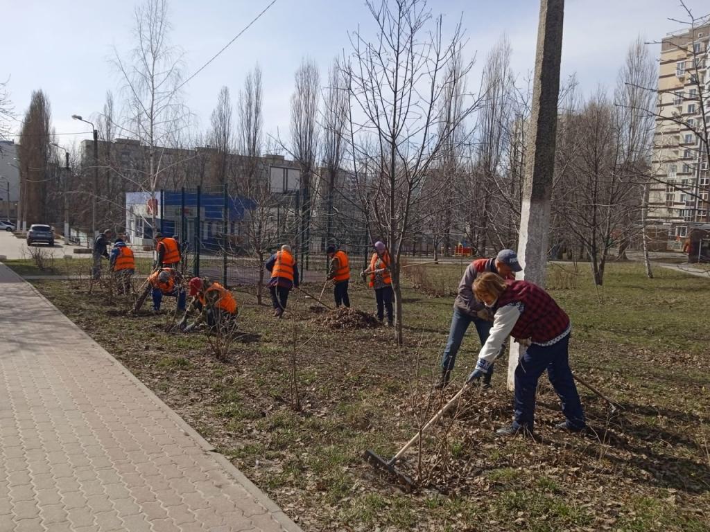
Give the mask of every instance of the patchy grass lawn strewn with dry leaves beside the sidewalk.
MULTIPOLYGON (((710 531, 710 281, 612 264, 602 293, 586 270, 551 266, 550 292, 573 322, 572 367, 623 414, 580 387, 594 434, 557 431, 559 402, 541 379, 542 440, 498 438, 512 414, 499 364, 493 389, 468 392, 410 450, 401 467, 420 489, 407 494, 362 453, 393 455, 456 392, 479 348, 469 333, 452 387, 430 393, 452 297, 422 289, 455 291, 461 265, 411 270, 423 268, 403 296, 403 349, 388 328, 330 328, 298 292, 291 319, 278 320, 237 288, 246 335, 227 360, 200 333, 165 333, 171 313, 127 315, 132 301, 87 297, 80 281, 34 284, 305 531, 710 531), (301 411, 291 408, 294 353, 301 411)), ((364 284, 350 292, 373 311, 364 284)))

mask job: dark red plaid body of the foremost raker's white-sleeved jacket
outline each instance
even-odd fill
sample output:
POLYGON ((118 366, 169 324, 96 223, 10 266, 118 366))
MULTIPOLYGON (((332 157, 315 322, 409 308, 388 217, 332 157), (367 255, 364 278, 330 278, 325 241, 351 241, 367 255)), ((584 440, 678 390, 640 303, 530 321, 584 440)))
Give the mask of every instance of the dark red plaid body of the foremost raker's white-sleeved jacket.
POLYGON ((498 297, 496 308, 515 305, 520 311, 510 336, 546 343, 567 330, 569 317, 545 290, 528 281, 506 280, 506 284, 508 289, 498 297))

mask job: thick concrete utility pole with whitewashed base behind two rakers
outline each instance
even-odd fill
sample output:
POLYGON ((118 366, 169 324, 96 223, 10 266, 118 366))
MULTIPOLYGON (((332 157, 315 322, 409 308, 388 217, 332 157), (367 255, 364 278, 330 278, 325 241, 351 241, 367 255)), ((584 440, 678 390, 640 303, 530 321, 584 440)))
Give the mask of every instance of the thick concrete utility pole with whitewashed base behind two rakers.
MULTIPOLYGON (((530 133, 518 238, 518 258, 523 265, 523 272, 518 274, 518 278, 540 286, 545 286, 547 266, 547 233, 550 231, 552 172, 555 170, 563 18, 564 0, 540 0, 535 84, 532 89, 530 133)), ((510 390, 514 388, 513 376, 518 365, 519 347, 517 343, 510 344, 508 358, 508 389, 510 390)))

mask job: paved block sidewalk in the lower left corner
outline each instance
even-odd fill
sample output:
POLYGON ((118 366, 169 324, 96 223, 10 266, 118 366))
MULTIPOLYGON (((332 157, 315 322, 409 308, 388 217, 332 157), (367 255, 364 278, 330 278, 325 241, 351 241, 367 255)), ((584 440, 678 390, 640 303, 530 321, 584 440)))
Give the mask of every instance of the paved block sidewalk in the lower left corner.
POLYGON ((0 291, 0 532, 300 531, 4 265, 0 291))

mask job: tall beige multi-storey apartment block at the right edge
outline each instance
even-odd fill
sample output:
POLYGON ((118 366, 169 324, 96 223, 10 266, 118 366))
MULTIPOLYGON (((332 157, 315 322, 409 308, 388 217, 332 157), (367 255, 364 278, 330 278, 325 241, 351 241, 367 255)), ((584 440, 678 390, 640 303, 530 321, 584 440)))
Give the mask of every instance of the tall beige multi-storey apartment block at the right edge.
POLYGON ((703 108, 710 113, 709 42, 705 20, 669 33, 661 43, 648 221, 672 236, 684 237, 689 226, 710 222, 709 131, 701 116, 703 108))

